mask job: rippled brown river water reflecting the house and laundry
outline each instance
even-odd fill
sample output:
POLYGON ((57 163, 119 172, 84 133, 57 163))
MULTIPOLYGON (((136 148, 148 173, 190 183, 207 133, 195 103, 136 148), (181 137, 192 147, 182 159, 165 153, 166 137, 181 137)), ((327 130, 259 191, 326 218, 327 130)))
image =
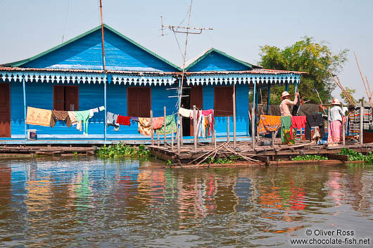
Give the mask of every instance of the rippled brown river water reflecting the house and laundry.
POLYGON ((372 165, 152 165, 0 160, 0 247, 288 247, 308 229, 372 245, 372 165))

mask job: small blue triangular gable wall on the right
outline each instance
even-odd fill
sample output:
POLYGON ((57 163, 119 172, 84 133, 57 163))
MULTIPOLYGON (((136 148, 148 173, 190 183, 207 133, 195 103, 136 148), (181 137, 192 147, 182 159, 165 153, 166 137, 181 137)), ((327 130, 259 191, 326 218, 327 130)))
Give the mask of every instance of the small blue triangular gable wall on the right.
POLYGON ((232 60, 232 58, 228 58, 227 56, 223 56, 220 53, 212 51, 205 58, 198 61, 196 65, 190 67, 188 72, 240 70, 248 70, 248 67, 235 60, 232 60))

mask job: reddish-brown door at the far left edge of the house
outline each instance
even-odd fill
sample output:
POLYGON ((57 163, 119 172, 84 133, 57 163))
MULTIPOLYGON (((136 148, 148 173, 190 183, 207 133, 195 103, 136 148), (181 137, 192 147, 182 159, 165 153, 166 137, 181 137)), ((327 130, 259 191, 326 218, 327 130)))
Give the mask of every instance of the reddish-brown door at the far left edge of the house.
POLYGON ((11 85, 0 84, 0 137, 11 137, 11 85))

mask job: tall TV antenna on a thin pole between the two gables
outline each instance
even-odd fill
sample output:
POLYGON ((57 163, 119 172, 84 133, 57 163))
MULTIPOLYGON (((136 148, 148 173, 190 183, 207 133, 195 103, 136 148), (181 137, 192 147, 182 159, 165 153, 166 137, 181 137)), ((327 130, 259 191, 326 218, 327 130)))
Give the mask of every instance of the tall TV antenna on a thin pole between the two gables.
POLYGON ((165 28, 168 28, 170 29, 172 32, 175 33, 182 33, 182 34, 186 34, 186 37, 185 37, 185 47, 184 47, 184 56, 182 56, 183 58, 183 63, 182 63, 182 81, 181 83, 179 84, 179 90, 178 90, 178 102, 177 102, 177 105, 179 106, 178 108, 181 107, 182 105, 182 86, 183 86, 183 83, 184 83, 184 75, 185 75, 185 59, 187 57, 187 46, 188 46, 188 36, 189 34, 202 34, 203 30, 213 30, 212 28, 203 28, 203 27, 191 27, 190 26, 190 20, 191 20, 191 5, 193 4, 193 0, 191 0, 191 4, 189 6, 189 13, 188 13, 188 23, 187 23, 187 27, 181 27, 181 26, 174 26, 174 25, 163 25, 163 16, 160 15, 160 22, 161 22, 161 30, 162 30, 162 36, 164 36, 163 34, 163 30, 165 28))

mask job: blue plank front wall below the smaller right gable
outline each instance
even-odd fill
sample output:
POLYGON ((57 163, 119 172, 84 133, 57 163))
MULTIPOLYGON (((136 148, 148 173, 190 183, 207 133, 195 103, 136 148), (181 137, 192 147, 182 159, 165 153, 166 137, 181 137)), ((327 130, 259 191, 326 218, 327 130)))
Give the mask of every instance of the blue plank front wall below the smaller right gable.
MULTIPOLYGON (((214 87, 203 87, 203 109, 214 108, 214 87)), ((227 136, 227 117, 215 117, 216 136, 227 136)), ((249 135, 248 119, 248 85, 236 85, 236 135, 249 135)), ((229 117, 229 135, 233 136, 233 117, 229 117)))

